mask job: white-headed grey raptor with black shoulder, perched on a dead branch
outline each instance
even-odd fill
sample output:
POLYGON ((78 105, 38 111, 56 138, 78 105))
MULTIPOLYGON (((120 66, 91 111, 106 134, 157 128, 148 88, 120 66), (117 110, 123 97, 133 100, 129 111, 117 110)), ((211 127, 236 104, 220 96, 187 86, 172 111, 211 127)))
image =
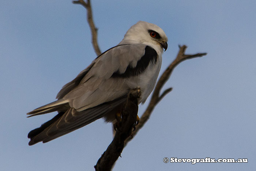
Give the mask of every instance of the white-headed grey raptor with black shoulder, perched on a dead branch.
POLYGON ((138 104, 153 91, 162 64, 167 36, 155 24, 139 21, 123 40, 102 54, 65 84, 56 101, 41 106, 28 117, 58 114, 29 132, 29 145, 49 142, 99 119, 113 122, 129 91, 140 87, 138 104))

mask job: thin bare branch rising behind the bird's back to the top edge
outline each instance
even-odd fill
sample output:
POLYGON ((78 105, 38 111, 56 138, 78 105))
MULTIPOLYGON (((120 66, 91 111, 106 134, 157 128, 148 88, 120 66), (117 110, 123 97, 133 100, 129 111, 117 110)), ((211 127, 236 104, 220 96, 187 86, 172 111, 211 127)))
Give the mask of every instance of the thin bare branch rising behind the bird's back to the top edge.
POLYGON ((98 41, 97 41, 97 31, 98 29, 95 27, 95 24, 93 22, 93 12, 91 11, 91 3, 90 0, 87 0, 87 3, 84 0, 78 0, 78 1, 72 1, 73 4, 81 4, 84 8, 87 9, 87 22, 91 29, 91 35, 92 35, 92 43, 94 52, 97 56, 101 54, 101 50, 99 49, 98 41))

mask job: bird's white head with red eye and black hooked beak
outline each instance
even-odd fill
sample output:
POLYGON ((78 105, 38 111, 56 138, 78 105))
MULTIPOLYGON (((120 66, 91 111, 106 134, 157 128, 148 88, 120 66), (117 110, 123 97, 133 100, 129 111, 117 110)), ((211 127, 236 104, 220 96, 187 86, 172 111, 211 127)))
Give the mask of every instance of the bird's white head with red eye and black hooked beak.
POLYGON ((124 35, 122 42, 153 43, 167 49, 168 38, 162 28, 155 24, 139 21, 124 35))

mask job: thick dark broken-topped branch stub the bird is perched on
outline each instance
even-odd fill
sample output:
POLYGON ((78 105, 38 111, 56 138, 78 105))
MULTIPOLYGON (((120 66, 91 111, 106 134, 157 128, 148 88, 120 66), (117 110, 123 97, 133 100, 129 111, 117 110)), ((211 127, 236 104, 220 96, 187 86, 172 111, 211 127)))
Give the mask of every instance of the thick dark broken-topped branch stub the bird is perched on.
POLYGON ((136 122, 138 114, 138 98, 140 97, 140 88, 131 90, 127 101, 122 110, 122 120, 116 124, 116 134, 109 147, 99 158, 95 171, 110 171, 121 152, 124 149, 124 141, 131 135, 132 128, 136 122))

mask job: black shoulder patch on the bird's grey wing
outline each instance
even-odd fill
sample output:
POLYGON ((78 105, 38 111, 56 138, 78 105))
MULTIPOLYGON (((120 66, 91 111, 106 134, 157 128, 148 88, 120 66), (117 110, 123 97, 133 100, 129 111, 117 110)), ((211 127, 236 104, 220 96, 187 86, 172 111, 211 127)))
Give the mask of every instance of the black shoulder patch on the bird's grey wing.
POLYGON ((145 69, 151 62, 153 63, 157 62, 157 52, 152 47, 146 46, 145 54, 137 62, 137 65, 135 68, 132 68, 130 65, 128 65, 124 73, 120 74, 117 71, 117 72, 114 72, 111 77, 131 77, 131 76, 139 75, 140 73, 145 71, 145 69))

